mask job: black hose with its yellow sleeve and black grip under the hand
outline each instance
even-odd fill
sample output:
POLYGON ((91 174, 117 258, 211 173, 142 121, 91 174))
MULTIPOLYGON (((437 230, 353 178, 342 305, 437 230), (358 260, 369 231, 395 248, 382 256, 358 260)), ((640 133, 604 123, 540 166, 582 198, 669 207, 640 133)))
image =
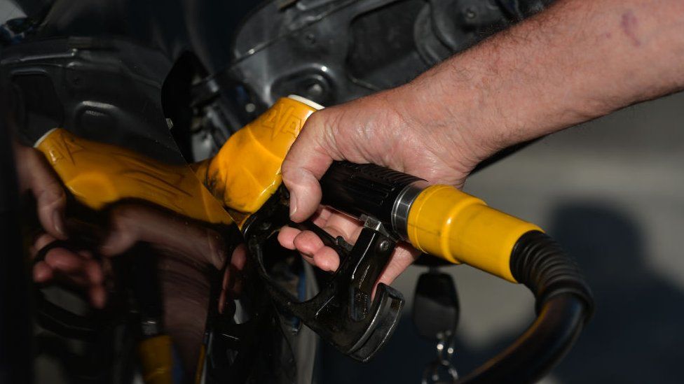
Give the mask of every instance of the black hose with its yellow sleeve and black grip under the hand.
POLYGON ((418 250, 528 287, 537 318, 509 348, 457 383, 530 383, 573 346, 594 300, 575 261, 540 227, 448 185, 373 164, 334 162, 322 204, 374 217, 418 250))

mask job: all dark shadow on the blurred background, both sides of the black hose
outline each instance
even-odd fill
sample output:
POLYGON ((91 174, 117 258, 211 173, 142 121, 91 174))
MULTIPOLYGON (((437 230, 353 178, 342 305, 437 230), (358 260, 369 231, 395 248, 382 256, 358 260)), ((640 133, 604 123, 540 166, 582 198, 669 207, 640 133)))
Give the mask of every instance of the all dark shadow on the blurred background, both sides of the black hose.
MULTIPOLYGON (((637 223, 601 202, 552 211, 549 234, 577 258, 596 297, 596 314, 552 376, 560 383, 681 383, 684 292, 650 271, 637 223)), ((406 308, 410 313, 410 308, 406 308)), ((505 348, 510 334, 483 348, 457 342, 456 367, 467 374, 505 348)), ((420 383, 435 355, 409 316, 369 364, 324 346, 319 383, 420 383)))

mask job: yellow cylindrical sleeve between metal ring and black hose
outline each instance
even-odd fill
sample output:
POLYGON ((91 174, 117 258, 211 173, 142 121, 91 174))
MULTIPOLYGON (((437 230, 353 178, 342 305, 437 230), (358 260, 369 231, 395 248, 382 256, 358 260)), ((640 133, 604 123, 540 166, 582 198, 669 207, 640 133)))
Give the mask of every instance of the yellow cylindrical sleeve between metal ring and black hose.
POLYGON ((526 232, 542 231, 448 185, 420 192, 406 227, 409 241, 419 250, 514 283, 509 263, 515 243, 526 232))

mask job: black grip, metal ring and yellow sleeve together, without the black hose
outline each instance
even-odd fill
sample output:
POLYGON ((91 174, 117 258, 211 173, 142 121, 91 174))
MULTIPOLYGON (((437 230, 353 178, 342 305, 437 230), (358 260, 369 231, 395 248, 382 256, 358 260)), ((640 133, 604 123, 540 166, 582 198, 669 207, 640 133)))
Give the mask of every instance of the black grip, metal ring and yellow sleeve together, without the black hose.
POLYGON ((527 232, 542 231, 450 185, 428 185, 374 164, 334 162, 321 178, 321 188, 324 205, 356 218, 376 218, 418 250, 513 282, 515 244, 527 232), (402 206, 404 211, 398 209, 402 206))

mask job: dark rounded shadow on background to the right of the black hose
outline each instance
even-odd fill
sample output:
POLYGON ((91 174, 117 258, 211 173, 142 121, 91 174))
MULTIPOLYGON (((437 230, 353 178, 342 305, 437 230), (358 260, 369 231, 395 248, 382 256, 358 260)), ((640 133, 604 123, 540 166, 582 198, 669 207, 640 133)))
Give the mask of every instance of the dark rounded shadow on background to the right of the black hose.
POLYGON ((601 203, 566 204, 549 233, 577 258, 596 315, 556 368, 563 383, 681 383, 684 292, 648 268, 638 224, 601 203))

